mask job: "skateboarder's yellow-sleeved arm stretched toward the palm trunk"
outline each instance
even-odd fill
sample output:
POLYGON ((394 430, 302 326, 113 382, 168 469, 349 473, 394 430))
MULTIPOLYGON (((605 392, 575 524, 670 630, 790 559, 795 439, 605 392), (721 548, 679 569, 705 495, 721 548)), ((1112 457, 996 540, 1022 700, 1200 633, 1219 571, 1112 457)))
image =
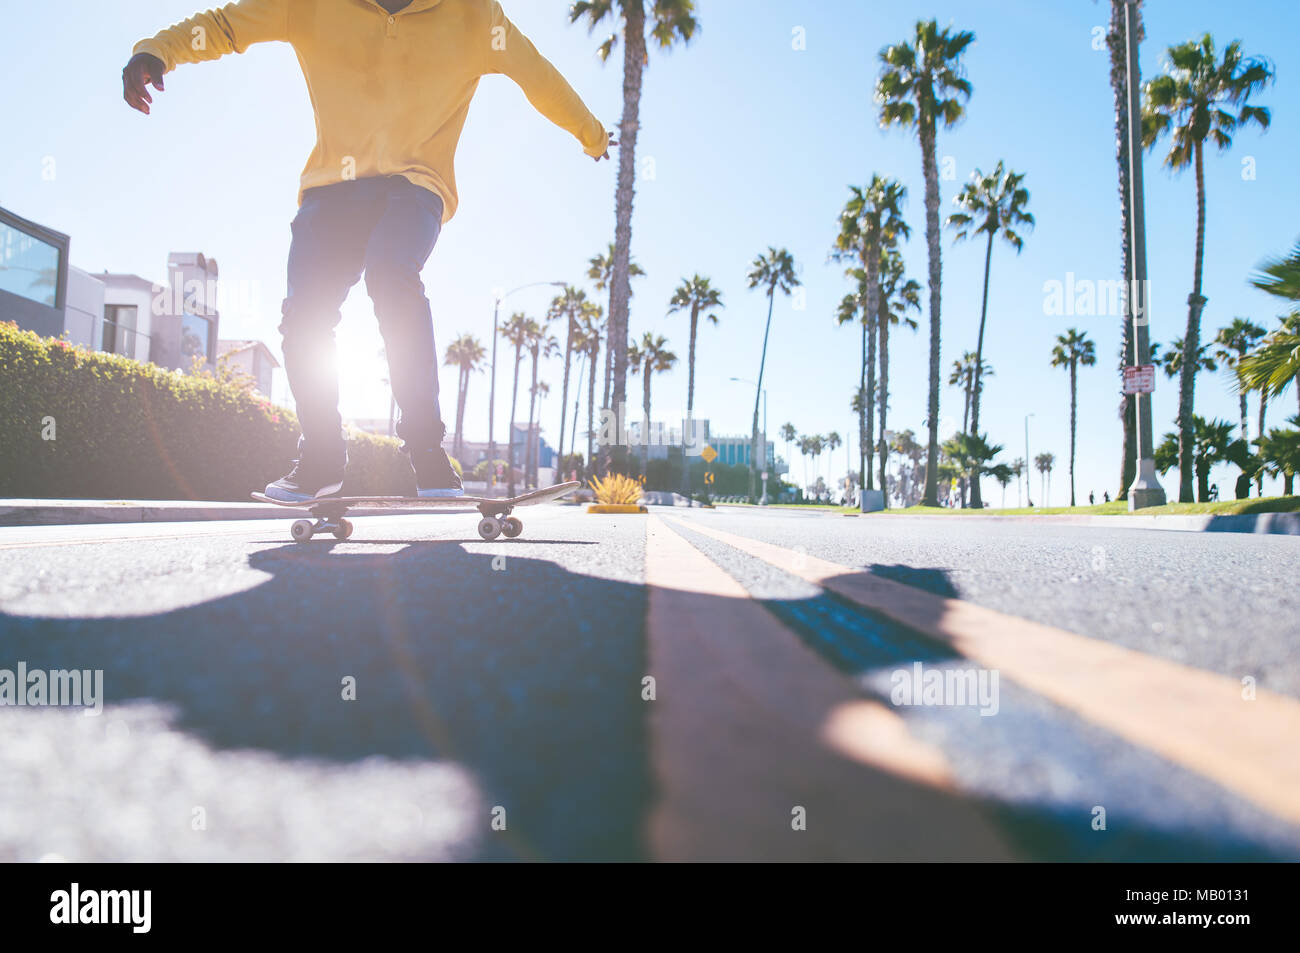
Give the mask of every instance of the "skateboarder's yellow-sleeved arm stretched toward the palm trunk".
POLYGON ((510 22, 497 0, 491 3, 491 31, 482 72, 503 73, 514 79, 533 108, 572 134, 593 159, 608 159, 610 146, 618 144, 560 72, 510 22))

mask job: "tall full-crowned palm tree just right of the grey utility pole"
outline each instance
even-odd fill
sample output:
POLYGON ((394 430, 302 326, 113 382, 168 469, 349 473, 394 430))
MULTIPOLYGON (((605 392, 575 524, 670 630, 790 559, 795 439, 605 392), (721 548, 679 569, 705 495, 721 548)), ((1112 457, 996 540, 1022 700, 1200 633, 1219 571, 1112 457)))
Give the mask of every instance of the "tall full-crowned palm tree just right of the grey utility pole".
POLYGON ((1187 303, 1187 332, 1183 334, 1183 364, 1178 381, 1178 499, 1192 501, 1192 407, 1196 384, 1196 361, 1201 334, 1201 268, 1205 257, 1205 143, 1213 140, 1219 151, 1232 144, 1232 133, 1251 122, 1269 127, 1269 111, 1248 105, 1251 95, 1273 81, 1270 64, 1258 57, 1243 57, 1242 44, 1234 40, 1223 49, 1222 61, 1214 52, 1214 38, 1205 34, 1200 42, 1188 40, 1169 48, 1167 73, 1147 83, 1143 104, 1143 146, 1153 148, 1169 133, 1173 144, 1165 165, 1175 172, 1188 165, 1196 169, 1196 267, 1192 272, 1192 294, 1187 303))

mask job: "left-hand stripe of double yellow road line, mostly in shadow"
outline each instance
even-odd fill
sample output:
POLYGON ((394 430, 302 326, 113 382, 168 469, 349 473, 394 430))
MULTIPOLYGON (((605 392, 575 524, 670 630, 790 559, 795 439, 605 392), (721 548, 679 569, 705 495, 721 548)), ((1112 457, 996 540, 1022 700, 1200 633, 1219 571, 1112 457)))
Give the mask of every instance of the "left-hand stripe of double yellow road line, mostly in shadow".
POLYGON ((655 516, 646 582, 655 858, 1017 859, 937 749, 655 516))

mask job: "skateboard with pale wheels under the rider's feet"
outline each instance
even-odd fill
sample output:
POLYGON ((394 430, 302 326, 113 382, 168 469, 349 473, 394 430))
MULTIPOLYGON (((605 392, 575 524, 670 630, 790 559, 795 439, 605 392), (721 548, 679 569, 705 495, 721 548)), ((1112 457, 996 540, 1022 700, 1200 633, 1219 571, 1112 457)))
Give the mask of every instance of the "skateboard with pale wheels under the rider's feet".
POLYGON ((549 503, 568 495, 581 485, 577 481, 555 484, 555 486, 543 486, 540 490, 507 499, 488 499, 485 497, 324 497, 318 501, 286 503, 281 499, 272 499, 263 493, 254 493, 252 498, 260 503, 274 503, 311 512, 312 520, 295 520, 290 528, 289 534, 294 537, 294 542, 307 542, 316 533, 333 533, 335 540, 348 538, 352 534, 352 521, 346 519, 346 515, 354 507, 455 512, 471 506, 482 514, 482 519, 478 520, 478 536, 490 541, 498 536, 514 540, 524 532, 524 523, 517 516, 510 515, 516 506, 549 503))

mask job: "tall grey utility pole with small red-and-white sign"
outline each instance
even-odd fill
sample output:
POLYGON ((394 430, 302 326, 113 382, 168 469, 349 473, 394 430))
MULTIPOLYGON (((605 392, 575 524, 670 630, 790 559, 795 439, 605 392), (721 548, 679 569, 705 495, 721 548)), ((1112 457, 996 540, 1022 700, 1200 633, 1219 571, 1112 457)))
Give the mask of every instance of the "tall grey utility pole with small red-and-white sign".
MULTIPOLYGON (((1134 360, 1150 363, 1150 300, 1147 294, 1147 222, 1141 174, 1141 70, 1138 64, 1138 0, 1124 3, 1124 38, 1128 46, 1128 248, 1134 285, 1128 289, 1128 319, 1134 332, 1134 360)), ((1164 506, 1165 490, 1156 477, 1156 451, 1150 426, 1150 394, 1134 395, 1138 415, 1138 473, 1128 488, 1128 510, 1164 506)))

